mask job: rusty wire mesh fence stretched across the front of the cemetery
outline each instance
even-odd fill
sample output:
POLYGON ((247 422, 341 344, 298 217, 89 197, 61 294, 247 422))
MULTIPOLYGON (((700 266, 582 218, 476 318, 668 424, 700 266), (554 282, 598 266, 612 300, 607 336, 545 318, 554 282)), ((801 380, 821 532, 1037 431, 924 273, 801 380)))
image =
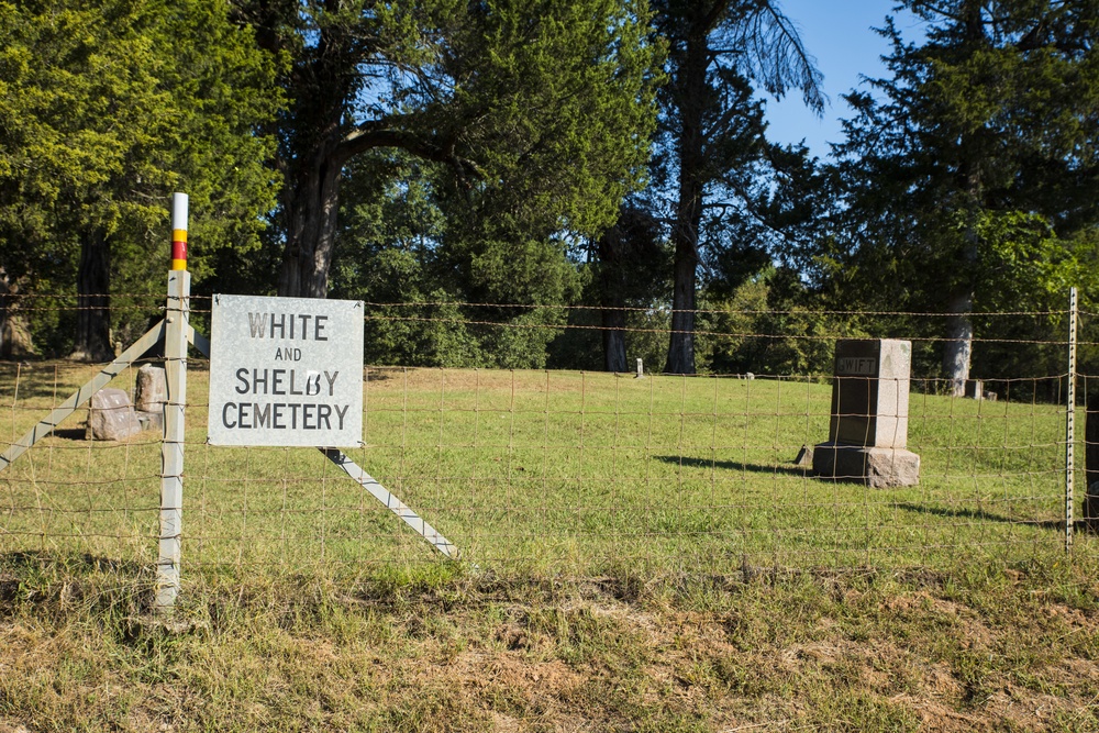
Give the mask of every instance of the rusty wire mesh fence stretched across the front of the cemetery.
MULTIPOLYGON (((24 308, 53 309, 63 320, 73 310, 48 298, 24 308)), ((425 319, 437 325, 434 316, 409 314, 423 308, 368 309, 367 333, 425 319)), ((443 320, 486 333, 552 331, 544 342, 574 338, 565 342, 569 348, 600 347, 601 330, 590 322, 598 311, 554 308, 554 323, 443 320)), ((192 303, 199 330, 208 309, 209 300, 192 303)), ((622 330, 634 345, 668 335, 657 327, 658 313, 631 314, 635 320, 622 330)), ((122 315, 144 326, 157 313, 134 301, 122 315)), ((984 378, 970 387, 972 398, 953 395, 950 381, 928 366, 942 346, 945 316, 831 314, 833 325, 857 321, 855 335, 914 344, 907 447, 920 456, 920 478, 886 488, 819 477, 797 460, 829 440, 831 354, 836 337, 846 335, 842 330, 807 330, 797 322, 806 313, 767 312, 766 333, 734 327, 758 323, 753 316, 759 313, 701 315, 709 316, 701 334, 709 353, 735 352, 751 373, 665 375, 651 370, 652 358, 640 378, 633 370, 368 366, 364 445, 346 453, 482 568, 707 574, 930 566, 976 556, 1011 563, 1063 551, 1072 529, 1066 487, 1073 484, 1066 481, 1079 487, 1077 517, 1087 486, 1084 460, 1066 463, 1067 311, 975 314, 975 363, 984 378), (990 327, 993 335, 984 336, 983 325, 996 322, 1010 327, 990 327), (807 347, 798 353, 828 358, 809 358, 800 371, 776 369, 764 358, 767 348, 754 342, 765 342, 773 355, 777 343, 801 343, 807 347), (743 360, 753 354, 755 363, 743 360)), ((1083 404, 1099 388, 1099 370, 1087 367, 1097 345, 1087 341, 1092 314, 1080 315, 1083 404)), ((132 391, 140 364, 111 386, 132 391)), ((0 410, 8 414, 0 447, 98 370, 63 360, 0 363, 0 410)), ((208 445, 209 362, 192 352, 188 375, 185 567, 359 571, 439 562, 421 536, 323 453, 208 445)), ((86 417, 78 411, 0 471, 0 553, 154 562, 160 434, 88 440, 86 417)), ((1078 430, 1081 458, 1084 437, 1078 430)))

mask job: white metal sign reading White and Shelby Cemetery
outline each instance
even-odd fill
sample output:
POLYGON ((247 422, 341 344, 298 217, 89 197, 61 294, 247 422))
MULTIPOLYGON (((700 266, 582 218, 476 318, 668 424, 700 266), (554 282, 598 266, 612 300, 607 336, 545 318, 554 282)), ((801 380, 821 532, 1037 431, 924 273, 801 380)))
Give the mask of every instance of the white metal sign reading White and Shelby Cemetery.
POLYGON ((363 441, 363 303, 214 296, 213 445, 357 447, 363 441))

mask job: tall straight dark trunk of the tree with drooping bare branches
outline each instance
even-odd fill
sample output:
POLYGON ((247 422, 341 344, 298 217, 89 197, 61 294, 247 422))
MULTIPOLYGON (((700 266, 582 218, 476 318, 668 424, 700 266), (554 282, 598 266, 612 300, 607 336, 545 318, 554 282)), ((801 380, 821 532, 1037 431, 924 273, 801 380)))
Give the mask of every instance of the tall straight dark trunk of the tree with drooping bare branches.
POLYGON ((687 38, 679 76, 673 82, 679 99, 679 200, 671 227, 675 244, 675 280, 671 290, 671 334, 668 374, 695 374, 695 310, 698 276, 698 236, 702 221, 703 165, 702 111, 706 104, 706 69, 709 65, 707 33, 702 29, 687 38))

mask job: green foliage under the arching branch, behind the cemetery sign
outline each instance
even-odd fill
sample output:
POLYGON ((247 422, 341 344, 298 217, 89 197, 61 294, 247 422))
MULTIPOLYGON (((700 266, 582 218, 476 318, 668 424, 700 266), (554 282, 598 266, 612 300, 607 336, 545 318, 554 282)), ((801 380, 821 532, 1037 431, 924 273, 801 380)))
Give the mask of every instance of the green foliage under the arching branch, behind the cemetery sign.
POLYGON ((467 236, 436 195, 448 171, 408 153, 374 151, 349 171, 332 295, 367 302, 369 363, 545 365, 564 314, 537 304, 578 282, 563 241, 467 236))

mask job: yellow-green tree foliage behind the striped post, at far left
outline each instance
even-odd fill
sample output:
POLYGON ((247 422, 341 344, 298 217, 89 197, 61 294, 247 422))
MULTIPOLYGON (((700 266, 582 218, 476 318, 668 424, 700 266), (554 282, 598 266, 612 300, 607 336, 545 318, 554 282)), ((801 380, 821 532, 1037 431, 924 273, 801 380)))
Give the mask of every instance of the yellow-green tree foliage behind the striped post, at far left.
POLYGON ((71 292, 80 237, 99 232, 115 292, 163 291, 175 190, 190 196, 198 280, 219 248, 258 244, 275 181, 256 130, 280 96, 225 2, 2 3, 0 34, 0 258, 13 278, 71 292))

